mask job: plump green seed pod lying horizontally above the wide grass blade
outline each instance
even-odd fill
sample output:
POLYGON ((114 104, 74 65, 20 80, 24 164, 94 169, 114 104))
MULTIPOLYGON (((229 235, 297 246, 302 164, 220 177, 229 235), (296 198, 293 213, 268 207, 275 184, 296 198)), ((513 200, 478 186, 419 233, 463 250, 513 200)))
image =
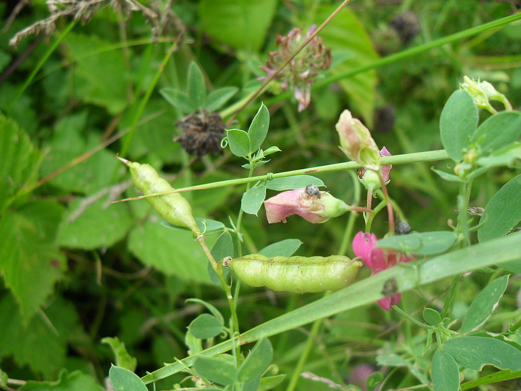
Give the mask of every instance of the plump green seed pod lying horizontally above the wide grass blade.
POLYGON ((260 254, 223 260, 242 282, 293 293, 337 290, 348 286, 362 266, 347 256, 274 256, 260 254))

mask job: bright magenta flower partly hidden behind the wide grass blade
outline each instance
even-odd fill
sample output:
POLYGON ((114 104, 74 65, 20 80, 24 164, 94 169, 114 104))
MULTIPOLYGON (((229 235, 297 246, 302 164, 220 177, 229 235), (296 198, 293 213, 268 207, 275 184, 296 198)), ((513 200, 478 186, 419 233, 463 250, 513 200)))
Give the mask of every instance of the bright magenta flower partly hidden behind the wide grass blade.
MULTIPOLYGON (((359 231, 353 239, 353 251, 373 271, 371 275, 393 267, 399 262, 411 262, 411 258, 400 252, 375 247, 377 241, 375 234, 363 233, 362 231, 359 231)), ((391 306, 398 304, 401 297, 400 293, 384 297, 378 300, 378 305, 384 310, 390 311, 391 306)))

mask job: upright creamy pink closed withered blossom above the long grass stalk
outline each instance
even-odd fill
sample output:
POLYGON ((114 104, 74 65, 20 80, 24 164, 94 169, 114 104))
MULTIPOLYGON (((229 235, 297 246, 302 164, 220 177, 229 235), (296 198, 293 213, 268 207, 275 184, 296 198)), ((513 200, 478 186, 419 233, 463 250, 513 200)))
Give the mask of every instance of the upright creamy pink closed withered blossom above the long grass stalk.
POLYGON ((380 169, 378 146, 359 119, 353 118, 349 110, 344 110, 335 128, 340 138, 340 146, 348 157, 367 169, 380 169))

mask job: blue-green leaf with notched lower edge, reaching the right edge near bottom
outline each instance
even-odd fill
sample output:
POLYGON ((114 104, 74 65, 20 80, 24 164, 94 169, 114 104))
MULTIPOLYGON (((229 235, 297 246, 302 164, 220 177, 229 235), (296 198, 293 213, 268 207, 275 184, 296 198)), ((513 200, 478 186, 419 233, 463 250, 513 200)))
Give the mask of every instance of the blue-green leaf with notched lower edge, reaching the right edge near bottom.
POLYGON ((443 350, 466 368, 481 371, 485 365, 521 370, 521 351, 494 338, 463 336, 443 344, 443 350))

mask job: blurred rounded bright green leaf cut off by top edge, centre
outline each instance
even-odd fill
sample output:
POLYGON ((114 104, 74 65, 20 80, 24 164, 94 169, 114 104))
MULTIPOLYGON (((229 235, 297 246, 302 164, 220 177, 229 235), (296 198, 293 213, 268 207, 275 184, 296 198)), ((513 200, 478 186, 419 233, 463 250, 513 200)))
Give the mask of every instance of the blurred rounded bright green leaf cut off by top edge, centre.
POLYGON ((275 15, 275 0, 202 0, 205 33, 235 49, 257 52, 275 15))

